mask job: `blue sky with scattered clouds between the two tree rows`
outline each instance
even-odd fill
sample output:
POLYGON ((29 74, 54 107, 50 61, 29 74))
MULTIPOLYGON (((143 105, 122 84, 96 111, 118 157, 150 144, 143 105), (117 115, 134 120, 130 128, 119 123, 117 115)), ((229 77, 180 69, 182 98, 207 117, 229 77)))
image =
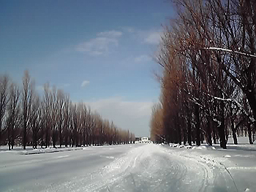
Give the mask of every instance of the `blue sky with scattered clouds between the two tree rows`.
POLYGON ((152 61, 171 4, 151 1, 0 1, 0 74, 29 69, 102 118, 149 136, 159 84, 152 61))

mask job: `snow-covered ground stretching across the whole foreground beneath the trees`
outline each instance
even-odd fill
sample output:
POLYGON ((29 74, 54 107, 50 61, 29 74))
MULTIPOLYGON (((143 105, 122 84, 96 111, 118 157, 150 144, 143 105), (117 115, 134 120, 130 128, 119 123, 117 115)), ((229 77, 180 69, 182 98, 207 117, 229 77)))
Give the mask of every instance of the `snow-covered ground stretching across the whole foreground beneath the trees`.
MULTIPOLYGON (((232 142, 232 141, 230 141, 232 142)), ((256 145, 0 151, 0 191, 256 191, 256 145)))

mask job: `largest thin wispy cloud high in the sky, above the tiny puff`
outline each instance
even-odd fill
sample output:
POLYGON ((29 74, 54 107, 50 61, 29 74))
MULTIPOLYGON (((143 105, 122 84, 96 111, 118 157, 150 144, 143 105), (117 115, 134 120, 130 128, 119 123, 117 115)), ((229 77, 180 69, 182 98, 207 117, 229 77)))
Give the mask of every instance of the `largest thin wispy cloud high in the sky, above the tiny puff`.
POLYGON ((98 33, 96 38, 80 43, 76 50, 91 55, 104 55, 111 47, 118 47, 118 38, 121 35, 121 31, 103 31, 98 33))

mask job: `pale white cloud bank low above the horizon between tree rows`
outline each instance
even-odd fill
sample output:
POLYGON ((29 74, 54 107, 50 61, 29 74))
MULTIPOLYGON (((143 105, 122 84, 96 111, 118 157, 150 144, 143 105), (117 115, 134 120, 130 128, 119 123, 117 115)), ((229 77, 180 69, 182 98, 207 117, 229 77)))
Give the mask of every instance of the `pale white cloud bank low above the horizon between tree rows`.
POLYGON ((123 128, 129 129, 136 136, 149 136, 149 120, 153 102, 124 101, 120 97, 99 99, 86 102, 91 110, 97 110, 102 118, 113 120, 123 128))

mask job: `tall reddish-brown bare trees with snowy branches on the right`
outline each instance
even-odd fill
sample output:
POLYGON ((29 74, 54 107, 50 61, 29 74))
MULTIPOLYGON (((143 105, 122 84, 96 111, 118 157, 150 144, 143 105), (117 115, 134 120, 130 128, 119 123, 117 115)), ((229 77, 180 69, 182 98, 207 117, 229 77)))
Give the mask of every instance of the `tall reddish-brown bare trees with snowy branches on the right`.
POLYGON ((209 145, 228 135, 255 139, 256 4, 250 0, 173 1, 177 18, 162 37, 162 93, 151 117, 157 142, 209 145))

